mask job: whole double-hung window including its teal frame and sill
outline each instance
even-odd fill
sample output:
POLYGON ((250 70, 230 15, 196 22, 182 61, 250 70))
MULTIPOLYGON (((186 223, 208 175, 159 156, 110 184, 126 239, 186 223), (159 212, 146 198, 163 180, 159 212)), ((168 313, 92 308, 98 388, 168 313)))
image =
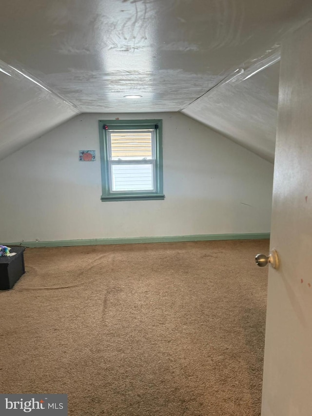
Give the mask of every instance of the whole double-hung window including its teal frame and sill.
POLYGON ((100 120, 102 201, 164 199, 162 120, 100 120))

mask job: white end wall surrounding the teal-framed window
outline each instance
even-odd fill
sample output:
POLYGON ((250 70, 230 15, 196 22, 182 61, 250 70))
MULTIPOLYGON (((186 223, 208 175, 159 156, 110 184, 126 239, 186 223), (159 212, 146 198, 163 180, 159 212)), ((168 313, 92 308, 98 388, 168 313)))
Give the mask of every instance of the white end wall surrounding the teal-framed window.
POLYGON ((270 231, 273 165, 180 113, 77 116, 0 161, 0 178, 0 241, 270 231), (163 119, 165 200, 100 201, 98 119, 117 117, 163 119))

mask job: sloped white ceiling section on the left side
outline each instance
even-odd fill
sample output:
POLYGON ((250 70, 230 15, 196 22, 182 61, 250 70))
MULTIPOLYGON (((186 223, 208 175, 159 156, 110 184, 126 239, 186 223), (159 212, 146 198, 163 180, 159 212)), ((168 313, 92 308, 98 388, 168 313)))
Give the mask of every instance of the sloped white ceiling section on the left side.
POLYGON ((3 62, 0 67, 8 74, 0 75, 0 158, 4 158, 78 111, 3 62))

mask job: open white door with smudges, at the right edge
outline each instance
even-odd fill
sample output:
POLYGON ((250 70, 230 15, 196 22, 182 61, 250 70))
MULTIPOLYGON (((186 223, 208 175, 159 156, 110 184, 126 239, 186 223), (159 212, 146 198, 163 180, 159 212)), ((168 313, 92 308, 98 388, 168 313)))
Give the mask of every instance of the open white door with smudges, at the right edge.
POLYGON ((312 24, 282 47, 262 416, 312 415, 312 24))

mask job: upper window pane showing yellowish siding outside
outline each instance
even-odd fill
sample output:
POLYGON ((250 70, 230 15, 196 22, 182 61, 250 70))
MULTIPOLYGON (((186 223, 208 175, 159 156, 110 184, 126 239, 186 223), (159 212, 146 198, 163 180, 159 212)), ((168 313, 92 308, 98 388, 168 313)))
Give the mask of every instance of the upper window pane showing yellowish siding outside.
POLYGON ((152 159, 153 133, 153 130, 110 131, 111 160, 152 159))

